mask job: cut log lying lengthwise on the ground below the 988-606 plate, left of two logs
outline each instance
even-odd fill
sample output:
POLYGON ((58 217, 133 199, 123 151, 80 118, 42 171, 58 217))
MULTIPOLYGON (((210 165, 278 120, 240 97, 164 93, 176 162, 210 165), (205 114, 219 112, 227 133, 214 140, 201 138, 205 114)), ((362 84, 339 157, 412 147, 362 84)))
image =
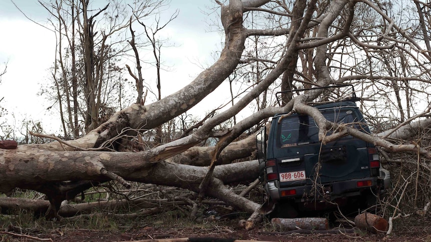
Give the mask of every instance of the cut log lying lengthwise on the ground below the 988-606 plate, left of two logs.
POLYGON ((328 230, 328 221, 324 218, 296 218, 296 219, 280 219, 274 218, 271 220, 272 227, 276 231, 290 230, 328 230))

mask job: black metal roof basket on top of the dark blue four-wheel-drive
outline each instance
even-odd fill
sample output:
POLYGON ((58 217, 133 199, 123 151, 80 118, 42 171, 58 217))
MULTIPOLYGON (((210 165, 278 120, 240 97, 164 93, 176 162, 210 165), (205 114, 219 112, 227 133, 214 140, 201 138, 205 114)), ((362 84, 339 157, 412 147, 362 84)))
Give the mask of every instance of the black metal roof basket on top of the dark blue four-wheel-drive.
MULTIPOLYGON (((304 89, 293 89, 288 91, 280 91, 275 93, 275 98, 277 99, 278 105, 280 104, 281 95, 278 96, 281 93, 289 93, 291 92, 293 95, 293 92, 299 93, 301 91, 308 91, 308 90, 318 90, 318 89, 331 89, 331 88, 337 88, 339 90, 338 94, 346 95, 348 92, 346 90, 341 91, 342 87, 351 87, 351 93, 349 97, 331 97, 331 100, 329 100, 329 97, 321 98, 321 100, 317 100, 317 102, 310 102, 310 105, 317 105, 317 104, 323 104, 323 103, 334 103, 334 102, 341 102, 341 101, 350 101, 350 102, 357 102, 360 100, 359 97, 356 97, 356 93, 354 92, 354 87, 352 84, 341 84, 341 85, 331 85, 331 86, 323 86, 323 87, 313 87, 313 88, 304 88, 304 89)), ((323 91, 322 91, 323 92, 323 91)))

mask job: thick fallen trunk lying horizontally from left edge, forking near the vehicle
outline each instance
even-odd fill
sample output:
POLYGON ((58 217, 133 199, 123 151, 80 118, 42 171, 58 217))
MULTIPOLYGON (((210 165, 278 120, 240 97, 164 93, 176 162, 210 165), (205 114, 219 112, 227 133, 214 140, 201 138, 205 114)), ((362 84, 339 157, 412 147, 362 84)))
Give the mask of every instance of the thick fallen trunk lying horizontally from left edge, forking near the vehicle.
MULTIPOLYGON (((30 147, 0 149, 0 192, 22 188, 46 194, 53 209, 48 218, 57 216, 62 201, 71 200, 81 191, 114 178, 119 182, 134 181, 198 192, 207 173, 206 167, 148 162, 143 155, 145 152, 57 152, 30 147)), ((213 173, 216 186, 209 186, 208 195, 253 213, 257 204, 225 189, 223 184, 253 181, 257 177, 258 162, 255 160, 218 166, 213 173)))

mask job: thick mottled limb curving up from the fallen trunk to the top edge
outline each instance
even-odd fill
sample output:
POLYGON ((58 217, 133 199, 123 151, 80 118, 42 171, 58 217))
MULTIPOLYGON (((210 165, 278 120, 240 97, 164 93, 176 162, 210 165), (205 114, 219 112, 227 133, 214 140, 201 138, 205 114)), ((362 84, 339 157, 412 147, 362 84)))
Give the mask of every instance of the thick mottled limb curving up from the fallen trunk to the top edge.
MULTIPOLYGON (((252 1, 257 4, 260 1, 252 1)), ((242 27, 242 5, 239 0, 231 1, 231 7, 222 7, 222 22, 225 25, 225 46, 218 60, 202 71, 190 84, 181 90, 152 104, 131 106, 115 113, 107 122, 88 133, 85 137, 71 141, 82 148, 98 147, 104 141, 115 137, 123 128, 152 129, 190 109, 212 92, 239 63, 244 49, 245 34, 242 27), (235 6, 238 5, 237 9, 235 6), (238 10, 239 9, 239 10, 238 10)), ((39 145, 39 148, 61 150, 57 143, 39 145)))

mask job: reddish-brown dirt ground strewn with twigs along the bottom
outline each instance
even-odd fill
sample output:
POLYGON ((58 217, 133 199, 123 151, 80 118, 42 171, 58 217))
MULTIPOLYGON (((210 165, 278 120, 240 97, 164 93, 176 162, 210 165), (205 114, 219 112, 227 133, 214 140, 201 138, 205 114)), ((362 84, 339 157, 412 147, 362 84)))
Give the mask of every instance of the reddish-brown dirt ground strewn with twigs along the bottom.
MULTIPOLYGON (((407 226, 398 223, 390 236, 374 235, 351 228, 339 229, 339 227, 327 232, 310 234, 274 232, 269 223, 264 223, 260 228, 245 231, 237 226, 238 219, 187 222, 176 221, 176 223, 164 223, 159 218, 154 221, 146 220, 144 223, 134 225, 118 226, 114 231, 90 230, 90 229, 68 229, 66 226, 43 232, 22 233, 37 239, 51 239, 54 242, 112 242, 112 241, 138 241, 138 240, 163 240, 178 238, 199 238, 194 241, 216 242, 216 239, 236 239, 250 241, 271 242, 355 242, 355 241, 381 241, 381 242, 431 242, 431 222, 422 222, 419 226, 407 226), (287 234, 288 233, 288 234, 287 234)), ((0 232, 1 233, 1 232, 0 232)), ((15 233, 21 234, 21 233, 15 233)), ((22 235, 21 234, 21 235, 22 235)), ((5 242, 27 242, 36 241, 31 238, 18 237, 18 235, 0 234, 0 241, 5 242)), ((225 241, 223 241, 225 242, 225 241)))

